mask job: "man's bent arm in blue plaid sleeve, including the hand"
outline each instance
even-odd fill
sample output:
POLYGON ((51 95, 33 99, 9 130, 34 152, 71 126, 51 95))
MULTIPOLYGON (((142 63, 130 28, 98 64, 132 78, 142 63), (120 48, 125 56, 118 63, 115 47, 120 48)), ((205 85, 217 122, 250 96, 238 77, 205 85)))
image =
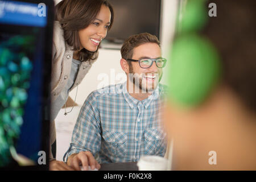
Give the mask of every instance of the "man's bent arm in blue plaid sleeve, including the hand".
POLYGON ((101 147, 100 113, 97 100, 91 93, 82 106, 73 130, 71 146, 67 151, 69 166, 80 170, 80 164, 86 169, 100 168, 94 156, 101 147))

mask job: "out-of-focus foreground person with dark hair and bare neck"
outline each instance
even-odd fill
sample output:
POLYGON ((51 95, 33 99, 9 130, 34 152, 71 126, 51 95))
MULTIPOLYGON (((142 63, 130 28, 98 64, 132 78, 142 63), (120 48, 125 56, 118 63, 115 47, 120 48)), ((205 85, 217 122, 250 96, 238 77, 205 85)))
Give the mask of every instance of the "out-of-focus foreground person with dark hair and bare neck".
MULTIPOLYGON (((217 16, 208 17, 206 26, 197 33, 216 48, 221 65, 216 70, 220 73, 214 77, 217 80, 212 79, 214 84, 204 89, 207 94, 200 93, 203 97, 196 100, 189 100, 196 88, 171 79, 185 88, 188 96, 181 97, 184 90, 175 93, 180 94, 177 99, 170 94, 165 114, 166 128, 174 139, 173 169, 256 169, 256 2, 207 1, 207 11, 212 2, 217 5, 217 16), (216 165, 209 164, 210 151, 216 152, 216 165)), ((185 71, 196 66, 177 68, 177 72, 186 76, 185 71)), ((202 85, 210 79, 204 67, 200 69, 205 74, 198 81, 202 85)), ((200 75, 200 69, 193 74, 200 75)), ((170 84, 170 92, 172 89, 170 84)))

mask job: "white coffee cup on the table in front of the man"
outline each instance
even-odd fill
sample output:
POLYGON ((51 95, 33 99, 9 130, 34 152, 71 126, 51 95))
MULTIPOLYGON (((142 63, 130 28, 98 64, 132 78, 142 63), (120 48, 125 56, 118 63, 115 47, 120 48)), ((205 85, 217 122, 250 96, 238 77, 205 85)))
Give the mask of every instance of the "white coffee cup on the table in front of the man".
POLYGON ((168 160, 156 155, 145 155, 139 159, 139 171, 166 171, 168 160))

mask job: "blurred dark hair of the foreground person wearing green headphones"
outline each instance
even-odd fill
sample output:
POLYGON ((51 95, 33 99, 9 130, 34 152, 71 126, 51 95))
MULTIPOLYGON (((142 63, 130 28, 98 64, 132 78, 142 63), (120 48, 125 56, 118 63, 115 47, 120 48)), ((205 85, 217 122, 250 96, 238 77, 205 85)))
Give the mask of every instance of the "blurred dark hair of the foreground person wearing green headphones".
POLYGON ((256 1, 210 0, 217 16, 209 17, 202 32, 217 48, 223 64, 222 80, 256 111, 256 1))

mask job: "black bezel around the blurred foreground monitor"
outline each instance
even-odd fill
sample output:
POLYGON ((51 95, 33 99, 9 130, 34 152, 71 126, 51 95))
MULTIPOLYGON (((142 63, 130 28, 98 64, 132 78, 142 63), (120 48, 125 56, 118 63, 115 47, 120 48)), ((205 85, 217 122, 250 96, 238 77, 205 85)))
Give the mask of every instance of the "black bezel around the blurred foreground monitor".
POLYGON ((50 108, 50 93, 51 93, 51 60, 52 60, 52 36, 53 36, 53 21, 54 21, 54 1, 53 0, 14 0, 19 2, 44 3, 48 9, 47 25, 46 25, 46 41, 44 44, 44 69, 43 69, 43 107, 42 107, 42 150, 46 151, 46 164, 36 166, 14 166, 0 167, 0 170, 48 170, 49 169, 49 108, 50 108), (46 110, 47 109, 47 110, 46 110))

